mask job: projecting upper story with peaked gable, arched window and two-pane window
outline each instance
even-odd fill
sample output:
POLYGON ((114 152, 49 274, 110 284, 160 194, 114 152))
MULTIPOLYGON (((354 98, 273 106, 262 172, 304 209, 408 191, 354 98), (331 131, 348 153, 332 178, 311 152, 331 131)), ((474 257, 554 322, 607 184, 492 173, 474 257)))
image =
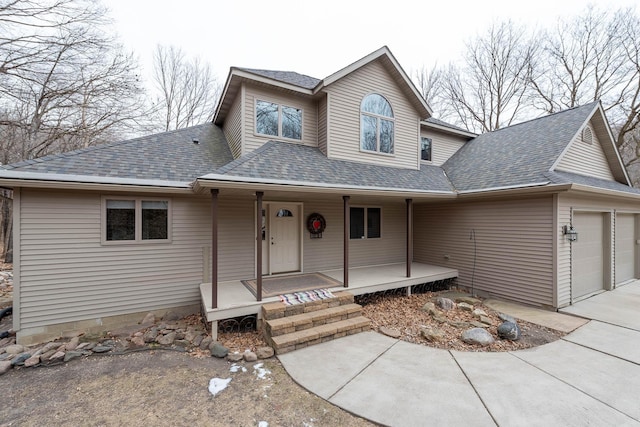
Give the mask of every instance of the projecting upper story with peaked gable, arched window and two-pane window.
POLYGON ((232 67, 214 123, 234 158, 273 139, 318 147, 330 158, 419 169, 420 122, 431 114, 384 46, 323 80, 232 67), (384 100, 388 115, 368 108, 372 99, 384 100))

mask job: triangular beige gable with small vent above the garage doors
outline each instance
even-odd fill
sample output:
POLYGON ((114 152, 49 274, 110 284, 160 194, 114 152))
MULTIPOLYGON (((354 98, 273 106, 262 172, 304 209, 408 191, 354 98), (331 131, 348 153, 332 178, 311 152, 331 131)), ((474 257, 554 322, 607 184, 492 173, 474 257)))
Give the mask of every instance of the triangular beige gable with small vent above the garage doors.
POLYGON ((555 161, 550 171, 572 172, 630 185, 600 102, 555 161))

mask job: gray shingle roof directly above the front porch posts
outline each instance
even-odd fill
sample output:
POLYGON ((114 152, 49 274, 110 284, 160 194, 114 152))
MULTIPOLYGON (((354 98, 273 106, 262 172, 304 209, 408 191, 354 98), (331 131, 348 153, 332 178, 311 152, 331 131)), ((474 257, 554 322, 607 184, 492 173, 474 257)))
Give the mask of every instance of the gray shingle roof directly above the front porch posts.
MULTIPOLYGON (((319 149, 270 141, 215 171, 229 177, 287 180, 349 187, 453 191, 441 168, 420 170, 377 166, 327 158, 319 149)), ((206 177, 204 177, 206 178, 206 177)))

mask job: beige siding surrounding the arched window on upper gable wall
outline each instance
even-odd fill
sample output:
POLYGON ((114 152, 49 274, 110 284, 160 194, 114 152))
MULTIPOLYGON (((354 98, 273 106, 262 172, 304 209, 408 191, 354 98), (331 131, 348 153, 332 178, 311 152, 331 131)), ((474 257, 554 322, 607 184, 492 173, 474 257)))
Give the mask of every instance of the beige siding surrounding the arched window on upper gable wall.
POLYGON ((326 88, 330 95, 328 143, 331 158, 418 168, 420 117, 384 66, 374 61, 326 88), (384 96, 395 118, 394 154, 360 151, 360 104, 370 94, 384 96))

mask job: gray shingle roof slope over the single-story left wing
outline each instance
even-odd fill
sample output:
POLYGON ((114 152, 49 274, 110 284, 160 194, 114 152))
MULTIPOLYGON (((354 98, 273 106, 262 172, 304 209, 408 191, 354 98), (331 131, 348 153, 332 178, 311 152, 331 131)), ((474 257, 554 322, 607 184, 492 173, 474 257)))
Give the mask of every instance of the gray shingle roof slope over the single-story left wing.
POLYGON ((191 182, 233 160, 222 129, 205 123, 6 165, 22 172, 191 182), (198 144, 193 142, 198 140, 198 144))

